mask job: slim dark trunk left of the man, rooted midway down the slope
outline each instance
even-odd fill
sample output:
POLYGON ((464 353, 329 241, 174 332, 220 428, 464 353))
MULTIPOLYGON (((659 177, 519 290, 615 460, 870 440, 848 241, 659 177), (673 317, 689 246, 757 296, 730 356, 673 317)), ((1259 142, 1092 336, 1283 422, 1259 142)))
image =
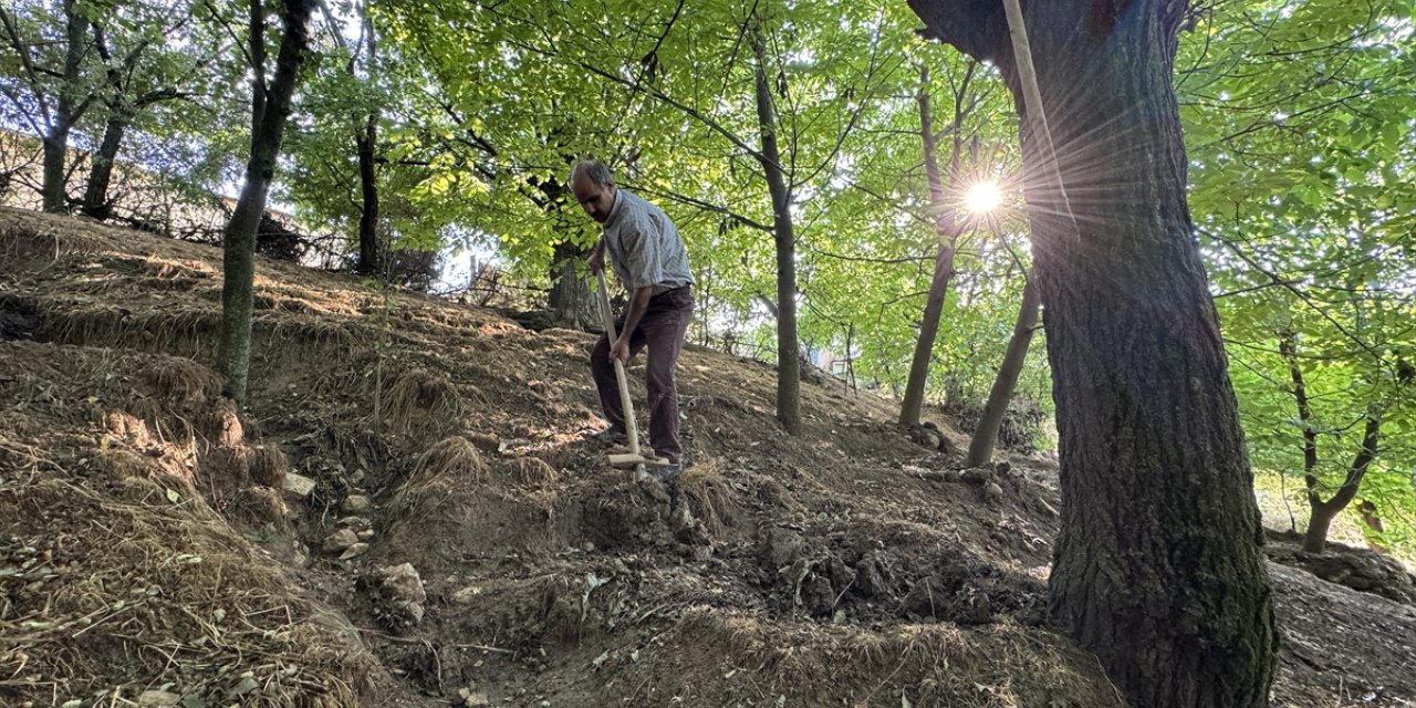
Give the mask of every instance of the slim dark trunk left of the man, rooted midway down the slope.
MULTIPOLYGON (((285 136, 285 122, 290 115, 290 96, 295 93, 300 65, 304 64, 306 48, 310 44, 309 24, 313 10, 314 0, 283 3, 285 35, 280 38, 280 52, 276 57, 275 81, 265 101, 258 101, 253 108, 261 112, 256 122, 259 130, 251 137, 246 181, 222 234, 219 364, 222 374, 227 375, 227 394, 236 405, 245 405, 246 377, 251 370, 256 227, 265 214, 266 194, 275 177, 280 139, 285 136)), ((253 71, 259 76, 262 67, 255 67, 253 71)), ((262 93, 262 85, 263 82, 256 79, 256 95, 262 93)))

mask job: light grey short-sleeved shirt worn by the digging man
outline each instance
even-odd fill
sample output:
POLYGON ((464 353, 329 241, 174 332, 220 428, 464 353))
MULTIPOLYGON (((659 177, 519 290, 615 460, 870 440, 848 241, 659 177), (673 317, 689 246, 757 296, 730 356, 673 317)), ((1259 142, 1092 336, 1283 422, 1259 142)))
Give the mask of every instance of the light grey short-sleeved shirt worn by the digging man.
POLYGON ((694 282, 678 228, 663 210, 627 190, 615 190, 615 205, 605 219, 605 248, 615 275, 630 292, 653 286, 660 295, 694 282))

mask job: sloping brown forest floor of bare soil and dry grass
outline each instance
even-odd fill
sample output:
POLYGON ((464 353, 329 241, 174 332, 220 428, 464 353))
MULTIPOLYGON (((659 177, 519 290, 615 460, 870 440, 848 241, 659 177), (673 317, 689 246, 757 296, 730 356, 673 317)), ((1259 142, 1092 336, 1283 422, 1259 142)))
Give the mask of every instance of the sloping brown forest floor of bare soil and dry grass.
MULTIPOLYGON (((793 438, 690 347, 690 466, 633 483, 590 334, 268 261, 238 416, 219 268, 0 210, 0 705, 1121 705, 1045 622, 1046 457, 820 375, 793 438)), ((1269 552, 1273 705, 1416 705, 1410 575, 1269 552)))

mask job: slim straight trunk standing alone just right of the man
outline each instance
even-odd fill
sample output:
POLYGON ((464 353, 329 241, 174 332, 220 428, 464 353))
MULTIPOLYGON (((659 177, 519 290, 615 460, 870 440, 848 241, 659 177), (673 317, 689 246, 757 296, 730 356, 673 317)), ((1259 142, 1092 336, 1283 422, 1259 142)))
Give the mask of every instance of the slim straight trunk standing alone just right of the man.
POLYGON ((782 173, 776 109, 767 86, 766 42, 760 27, 752 28, 758 61, 758 126, 762 133, 762 170, 772 194, 772 234, 777 246, 777 421, 792 435, 801 433, 801 360, 796 327, 796 234, 792 224, 792 190, 782 173))

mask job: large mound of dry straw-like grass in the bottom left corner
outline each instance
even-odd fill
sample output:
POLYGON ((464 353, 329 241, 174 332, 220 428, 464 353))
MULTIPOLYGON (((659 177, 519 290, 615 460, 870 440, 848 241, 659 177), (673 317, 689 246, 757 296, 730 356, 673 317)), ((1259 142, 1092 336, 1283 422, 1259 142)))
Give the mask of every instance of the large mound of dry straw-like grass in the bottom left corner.
MULTIPOLYGON (((92 473, 6 442, 30 470, 6 486, 6 555, 33 558, 27 585, 0 612, 0 692, 18 701, 127 702, 144 688, 225 698, 248 671, 242 705, 353 707, 377 663, 357 639, 320 622, 290 582, 258 558, 181 480, 144 456, 103 450, 122 474, 106 491, 92 473)), ((115 474, 116 476, 116 474, 115 474)), ((8 700, 8 698, 7 698, 8 700)))

